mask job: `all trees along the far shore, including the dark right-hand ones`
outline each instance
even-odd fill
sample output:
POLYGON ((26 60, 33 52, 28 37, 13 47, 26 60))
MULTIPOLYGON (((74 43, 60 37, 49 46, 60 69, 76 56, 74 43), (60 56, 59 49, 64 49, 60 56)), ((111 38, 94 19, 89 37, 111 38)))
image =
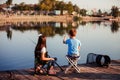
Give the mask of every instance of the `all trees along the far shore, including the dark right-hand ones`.
MULTIPOLYGON (((7 0, 6 4, 11 5, 12 0, 7 0)), ((39 0, 39 3, 34 4, 34 5, 28 5, 28 4, 25 4, 24 2, 22 2, 20 4, 15 4, 15 6, 12 7, 12 9, 20 10, 20 11, 24 11, 24 10, 40 11, 40 10, 42 10, 42 11, 46 11, 46 12, 53 11, 53 10, 60 10, 61 14, 63 13, 64 10, 67 10, 69 14, 72 14, 72 12, 75 11, 82 16, 87 15, 86 9, 80 9, 77 5, 73 5, 71 1, 69 1, 68 3, 65 3, 63 1, 58 1, 58 0, 39 0)), ((120 11, 119 11, 118 7, 112 6, 110 13, 102 12, 99 9, 97 14, 94 14, 94 12, 93 12, 92 15, 93 16, 94 15, 97 15, 97 16, 112 15, 113 17, 118 17, 118 16, 120 16, 120 11)))

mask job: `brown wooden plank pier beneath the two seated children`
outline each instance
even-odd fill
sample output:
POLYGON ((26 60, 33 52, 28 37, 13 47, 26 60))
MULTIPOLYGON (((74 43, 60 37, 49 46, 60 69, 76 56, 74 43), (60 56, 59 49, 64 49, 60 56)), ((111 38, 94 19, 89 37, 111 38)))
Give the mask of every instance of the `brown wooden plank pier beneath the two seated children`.
POLYGON ((70 71, 65 74, 56 67, 55 76, 34 75, 34 69, 1 71, 0 80, 120 80, 120 60, 113 60, 108 68, 94 64, 81 64, 79 68, 81 73, 70 71))

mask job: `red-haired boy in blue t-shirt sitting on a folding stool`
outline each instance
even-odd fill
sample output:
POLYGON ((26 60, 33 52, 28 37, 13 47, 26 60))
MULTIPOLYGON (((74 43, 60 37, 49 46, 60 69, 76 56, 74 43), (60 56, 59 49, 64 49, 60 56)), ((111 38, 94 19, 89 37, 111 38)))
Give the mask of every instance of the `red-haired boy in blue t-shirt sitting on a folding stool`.
MULTIPOLYGON (((69 31, 69 39, 66 39, 66 36, 64 36, 63 43, 68 45, 68 54, 67 56, 73 60, 75 65, 77 66, 77 61, 80 56, 79 51, 80 51, 80 46, 81 42, 76 39, 76 33, 77 31, 75 29, 71 29, 69 31), (74 59, 73 59, 74 57, 74 59)), ((66 70, 65 73, 71 68, 72 66, 70 65, 66 70)))

